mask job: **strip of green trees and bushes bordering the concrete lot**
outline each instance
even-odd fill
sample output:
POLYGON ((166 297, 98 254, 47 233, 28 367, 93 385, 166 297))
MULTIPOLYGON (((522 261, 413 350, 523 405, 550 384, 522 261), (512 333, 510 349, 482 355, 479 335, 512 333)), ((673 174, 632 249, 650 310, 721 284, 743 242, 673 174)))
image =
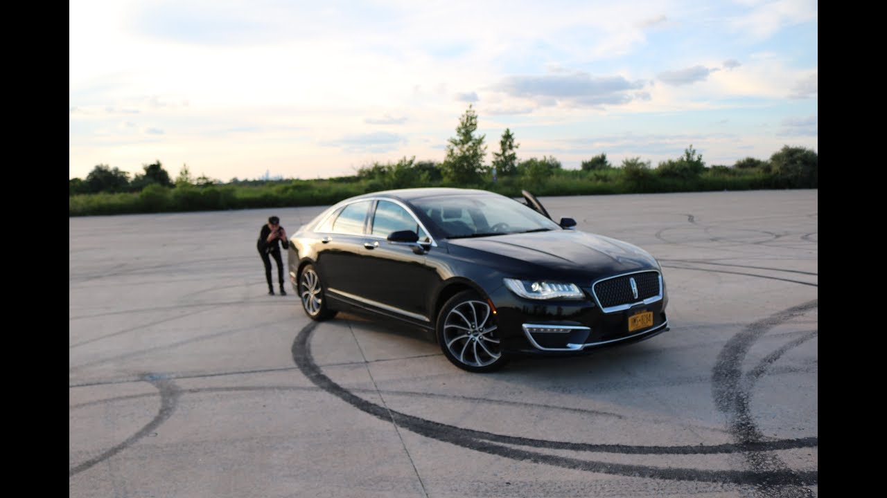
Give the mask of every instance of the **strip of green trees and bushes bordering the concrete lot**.
POLYGON ((561 167, 553 156, 518 160, 514 133, 506 128, 490 164, 484 163, 486 136, 477 133, 477 114, 469 105, 441 162, 404 157, 375 162, 355 175, 318 180, 238 180, 223 183, 193 177, 184 165, 175 179, 160 160, 133 175, 99 164, 85 179, 69 181, 69 215, 152 213, 277 206, 318 206, 359 193, 397 188, 453 186, 520 196, 588 195, 657 191, 712 191, 818 188, 819 157, 804 147, 784 145, 768 160, 747 157, 732 166, 708 166, 690 144, 678 158, 659 162, 626 158, 620 165, 600 153, 577 170, 561 167))

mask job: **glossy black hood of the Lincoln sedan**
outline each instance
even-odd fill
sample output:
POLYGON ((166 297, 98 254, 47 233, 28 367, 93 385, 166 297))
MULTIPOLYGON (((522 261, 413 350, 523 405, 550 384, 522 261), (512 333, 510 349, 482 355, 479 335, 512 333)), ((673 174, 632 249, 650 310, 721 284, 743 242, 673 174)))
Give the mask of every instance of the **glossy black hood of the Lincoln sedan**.
POLYGON ((578 230, 554 230, 447 241, 453 249, 495 253, 575 276, 590 277, 659 268, 637 245, 578 230))

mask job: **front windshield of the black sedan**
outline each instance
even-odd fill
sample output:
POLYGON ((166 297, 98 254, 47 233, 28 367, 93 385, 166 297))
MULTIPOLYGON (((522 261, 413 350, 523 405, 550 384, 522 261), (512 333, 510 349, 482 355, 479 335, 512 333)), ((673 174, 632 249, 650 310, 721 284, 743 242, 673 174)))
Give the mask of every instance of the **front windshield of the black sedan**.
POLYGON ((498 194, 420 198, 412 204, 427 214, 447 238, 561 230, 530 207, 498 194))

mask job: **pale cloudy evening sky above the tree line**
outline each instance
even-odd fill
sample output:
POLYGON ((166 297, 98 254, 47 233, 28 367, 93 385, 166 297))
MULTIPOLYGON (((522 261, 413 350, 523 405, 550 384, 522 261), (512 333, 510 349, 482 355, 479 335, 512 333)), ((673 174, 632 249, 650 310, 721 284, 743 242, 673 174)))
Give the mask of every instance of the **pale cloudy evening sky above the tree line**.
POLYGON ((71 0, 69 178, 219 182, 441 162, 469 106, 486 164, 652 167, 817 151, 809 0, 71 0))

